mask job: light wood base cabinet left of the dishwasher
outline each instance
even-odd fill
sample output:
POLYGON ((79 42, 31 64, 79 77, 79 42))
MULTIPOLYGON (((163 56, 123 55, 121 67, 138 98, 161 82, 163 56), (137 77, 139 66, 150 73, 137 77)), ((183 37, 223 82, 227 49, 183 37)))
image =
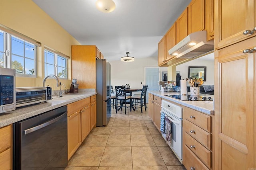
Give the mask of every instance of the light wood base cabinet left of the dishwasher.
POLYGON ((0 128, 0 169, 12 169, 12 125, 0 128))

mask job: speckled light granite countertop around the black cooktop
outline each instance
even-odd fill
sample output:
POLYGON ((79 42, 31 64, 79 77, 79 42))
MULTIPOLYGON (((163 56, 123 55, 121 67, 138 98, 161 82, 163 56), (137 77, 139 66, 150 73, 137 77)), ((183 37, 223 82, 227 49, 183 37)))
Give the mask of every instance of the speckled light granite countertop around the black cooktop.
MULTIPOLYGON (((189 107, 191 109, 200 111, 202 113, 206 113, 206 114, 209 114, 209 115, 214 115, 213 101, 183 101, 183 100, 171 98, 171 97, 168 97, 168 96, 164 96, 164 95, 168 95, 168 94, 180 94, 178 92, 159 92, 158 90, 152 90, 152 91, 149 91, 148 93, 159 96, 159 97, 164 98, 166 100, 170 100, 170 101, 175 102, 177 104, 189 107)), ((200 94, 200 96, 214 98, 214 95, 200 94)))

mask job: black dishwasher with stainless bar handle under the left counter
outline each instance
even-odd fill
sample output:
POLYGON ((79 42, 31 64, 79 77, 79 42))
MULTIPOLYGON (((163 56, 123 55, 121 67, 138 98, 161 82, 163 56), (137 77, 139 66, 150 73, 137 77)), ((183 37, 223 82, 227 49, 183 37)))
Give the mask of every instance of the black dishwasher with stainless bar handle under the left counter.
POLYGON ((65 169, 67 106, 14 123, 13 132, 14 170, 65 169))

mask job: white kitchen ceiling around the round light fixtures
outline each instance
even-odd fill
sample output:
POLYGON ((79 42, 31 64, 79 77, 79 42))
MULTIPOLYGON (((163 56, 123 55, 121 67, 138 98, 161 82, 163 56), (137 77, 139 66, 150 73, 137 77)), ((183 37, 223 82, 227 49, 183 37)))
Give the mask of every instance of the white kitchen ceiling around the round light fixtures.
POLYGON ((114 0, 103 13, 96 0, 33 0, 82 45, 96 45, 108 61, 158 57, 158 42, 191 0, 114 0))

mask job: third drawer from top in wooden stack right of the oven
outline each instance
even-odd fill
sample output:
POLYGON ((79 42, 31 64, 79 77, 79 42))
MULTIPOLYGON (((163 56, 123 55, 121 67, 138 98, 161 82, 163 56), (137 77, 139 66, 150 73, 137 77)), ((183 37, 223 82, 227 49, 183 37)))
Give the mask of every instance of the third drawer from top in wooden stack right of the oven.
POLYGON ((184 134, 184 144, 192 151, 208 168, 211 168, 212 153, 187 133, 184 134))

